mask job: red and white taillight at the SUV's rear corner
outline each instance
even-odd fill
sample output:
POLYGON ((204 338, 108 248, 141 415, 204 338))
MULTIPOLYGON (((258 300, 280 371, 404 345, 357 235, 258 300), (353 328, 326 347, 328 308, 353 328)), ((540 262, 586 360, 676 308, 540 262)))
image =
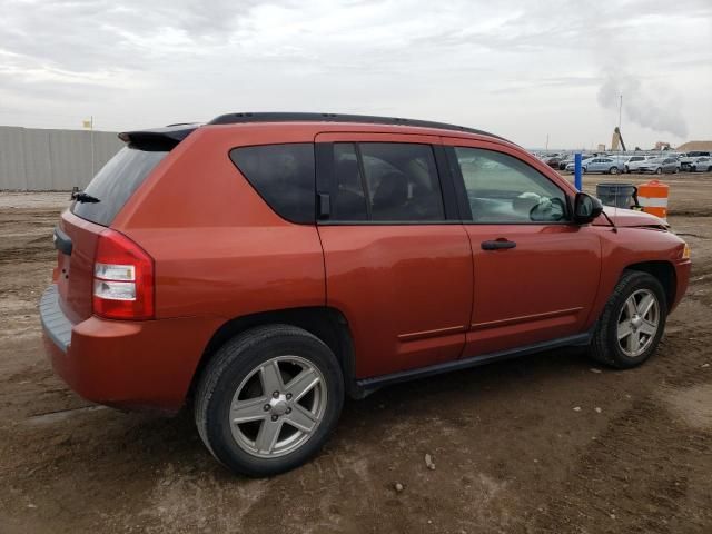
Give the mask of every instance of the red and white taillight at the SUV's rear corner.
POLYGON ((115 230, 103 230, 97 243, 93 313, 108 319, 154 317, 154 259, 115 230))

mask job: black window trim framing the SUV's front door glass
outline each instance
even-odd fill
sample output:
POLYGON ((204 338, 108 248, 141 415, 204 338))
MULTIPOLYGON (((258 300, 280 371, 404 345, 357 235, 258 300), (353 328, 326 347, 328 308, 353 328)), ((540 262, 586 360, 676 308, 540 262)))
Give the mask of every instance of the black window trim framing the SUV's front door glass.
POLYGON ((457 191, 457 200, 461 211, 463 212, 462 224, 463 225, 473 225, 473 226, 570 226, 573 222, 573 207, 571 205, 571 195, 564 188, 562 188, 558 184, 552 180, 544 172, 538 170, 537 168, 530 165, 527 161, 522 158, 505 151, 505 150, 496 150, 494 148, 485 148, 485 147, 471 147, 466 145, 445 145, 445 152, 447 154, 447 160, 451 167, 451 174, 453 175, 453 180, 455 182, 455 189, 457 191), (551 221, 536 221, 532 220, 528 222, 518 222, 518 221, 502 221, 502 222, 478 222, 474 220, 472 215, 472 208, 469 206, 469 201, 467 200, 467 188, 465 187, 465 178, 462 174, 462 169, 459 168, 459 160, 457 159, 457 154, 455 152, 455 148, 468 148, 474 150, 487 150, 490 152, 497 152, 504 156, 508 156, 511 158, 516 159, 521 164, 525 165, 530 169, 532 169, 537 175, 542 176, 546 179, 552 186, 556 187, 560 191, 562 191, 565 199, 565 219, 564 220, 551 220, 551 221))

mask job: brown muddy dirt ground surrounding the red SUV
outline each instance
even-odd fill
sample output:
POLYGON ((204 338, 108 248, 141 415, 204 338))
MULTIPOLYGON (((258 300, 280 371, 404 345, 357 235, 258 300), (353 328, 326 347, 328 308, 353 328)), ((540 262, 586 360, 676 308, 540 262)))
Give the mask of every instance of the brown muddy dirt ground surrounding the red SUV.
POLYGON ((0 533, 712 532, 712 176, 663 179, 694 267, 651 362, 557 350, 383 389, 271 479, 227 473, 189 414, 91 406, 52 374, 37 301, 68 195, 0 194, 0 533))

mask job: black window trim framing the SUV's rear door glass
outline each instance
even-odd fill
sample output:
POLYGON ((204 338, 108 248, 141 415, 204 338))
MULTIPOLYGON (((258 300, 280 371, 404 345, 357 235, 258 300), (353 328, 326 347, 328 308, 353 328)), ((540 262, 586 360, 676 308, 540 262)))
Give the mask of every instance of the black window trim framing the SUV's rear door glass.
MULTIPOLYGON (((360 134, 360 132, 359 132, 360 134)), ((462 224, 462 216, 457 206, 457 196, 455 186, 453 185, 453 177, 447 165, 445 151, 442 145, 433 142, 414 142, 408 140, 387 141, 382 139, 358 139, 358 140, 337 140, 337 141, 316 141, 316 195, 336 195, 336 177, 334 176, 334 145, 335 144, 348 144, 353 145, 356 158, 358 161, 358 169, 360 172, 362 182, 367 181, 366 174, 363 164, 363 157, 360 151, 362 144, 378 144, 378 145, 422 145, 429 147, 433 151, 433 161, 435 162, 435 174, 438 180, 441 201, 443 202, 443 219, 439 220, 372 220, 372 206, 366 201, 366 210, 368 220, 335 220, 332 215, 327 218, 316 217, 316 224, 320 226, 439 226, 439 225, 459 225, 462 224)), ((368 185, 363 184, 364 194, 368 195, 368 185)), ((369 197, 367 197, 369 198, 369 197)), ((332 206, 334 202, 330 202, 332 206)))

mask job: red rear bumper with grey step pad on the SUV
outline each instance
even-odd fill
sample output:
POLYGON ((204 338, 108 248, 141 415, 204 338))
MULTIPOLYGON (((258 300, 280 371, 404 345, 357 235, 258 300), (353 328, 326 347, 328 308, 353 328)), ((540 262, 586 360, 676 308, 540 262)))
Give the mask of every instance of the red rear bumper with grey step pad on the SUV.
POLYGON ((219 318, 71 324, 57 286, 40 300, 44 346, 55 372, 83 398, 126 409, 175 413, 182 406, 219 318))

